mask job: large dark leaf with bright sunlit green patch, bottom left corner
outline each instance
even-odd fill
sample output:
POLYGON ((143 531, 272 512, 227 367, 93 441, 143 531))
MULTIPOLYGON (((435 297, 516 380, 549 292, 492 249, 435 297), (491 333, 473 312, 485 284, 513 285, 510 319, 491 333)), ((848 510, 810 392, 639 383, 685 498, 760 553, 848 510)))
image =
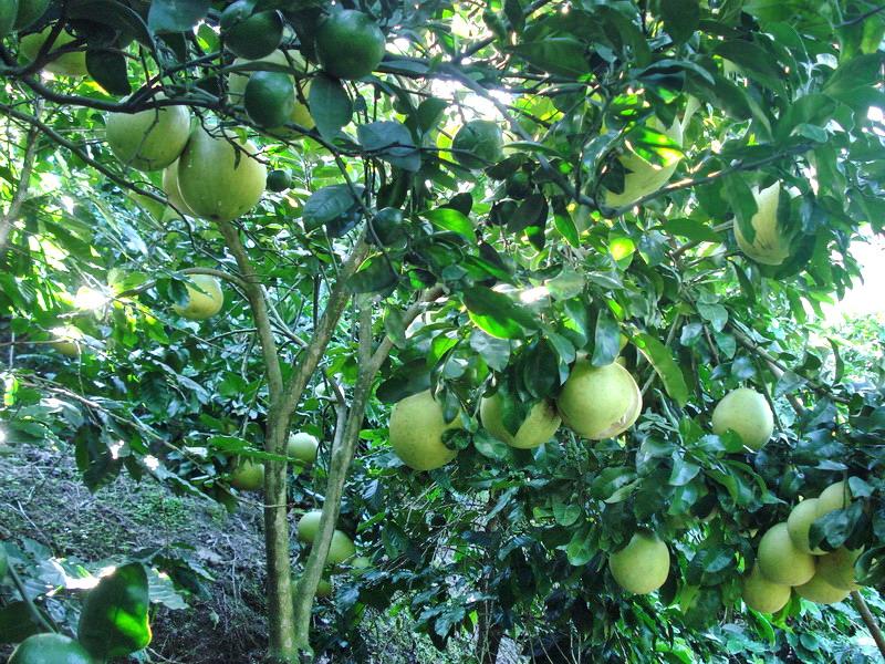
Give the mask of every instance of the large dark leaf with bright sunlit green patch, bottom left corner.
POLYGON ((77 640, 94 657, 123 657, 150 643, 147 574, 139 562, 102 578, 83 603, 77 640))

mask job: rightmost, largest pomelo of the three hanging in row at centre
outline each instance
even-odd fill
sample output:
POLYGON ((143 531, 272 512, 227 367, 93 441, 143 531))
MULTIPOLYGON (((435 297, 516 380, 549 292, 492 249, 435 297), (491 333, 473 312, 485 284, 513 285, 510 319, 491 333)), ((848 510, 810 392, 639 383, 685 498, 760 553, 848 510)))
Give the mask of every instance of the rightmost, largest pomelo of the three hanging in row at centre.
POLYGON ((639 387, 617 363, 592 366, 579 360, 556 400, 563 423, 591 440, 617 436, 633 426, 643 407, 639 387))

